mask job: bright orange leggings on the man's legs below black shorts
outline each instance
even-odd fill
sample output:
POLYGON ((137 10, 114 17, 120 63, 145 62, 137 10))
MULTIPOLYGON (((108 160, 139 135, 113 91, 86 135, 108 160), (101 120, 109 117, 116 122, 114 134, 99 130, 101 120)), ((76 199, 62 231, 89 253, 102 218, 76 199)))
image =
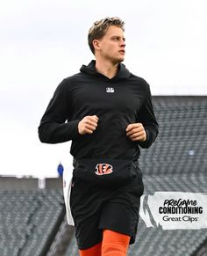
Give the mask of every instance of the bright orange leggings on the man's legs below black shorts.
POLYGON ((126 256, 130 237, 112 230, 103 230, 103 241, 86 250, 80 256, 126 256))

